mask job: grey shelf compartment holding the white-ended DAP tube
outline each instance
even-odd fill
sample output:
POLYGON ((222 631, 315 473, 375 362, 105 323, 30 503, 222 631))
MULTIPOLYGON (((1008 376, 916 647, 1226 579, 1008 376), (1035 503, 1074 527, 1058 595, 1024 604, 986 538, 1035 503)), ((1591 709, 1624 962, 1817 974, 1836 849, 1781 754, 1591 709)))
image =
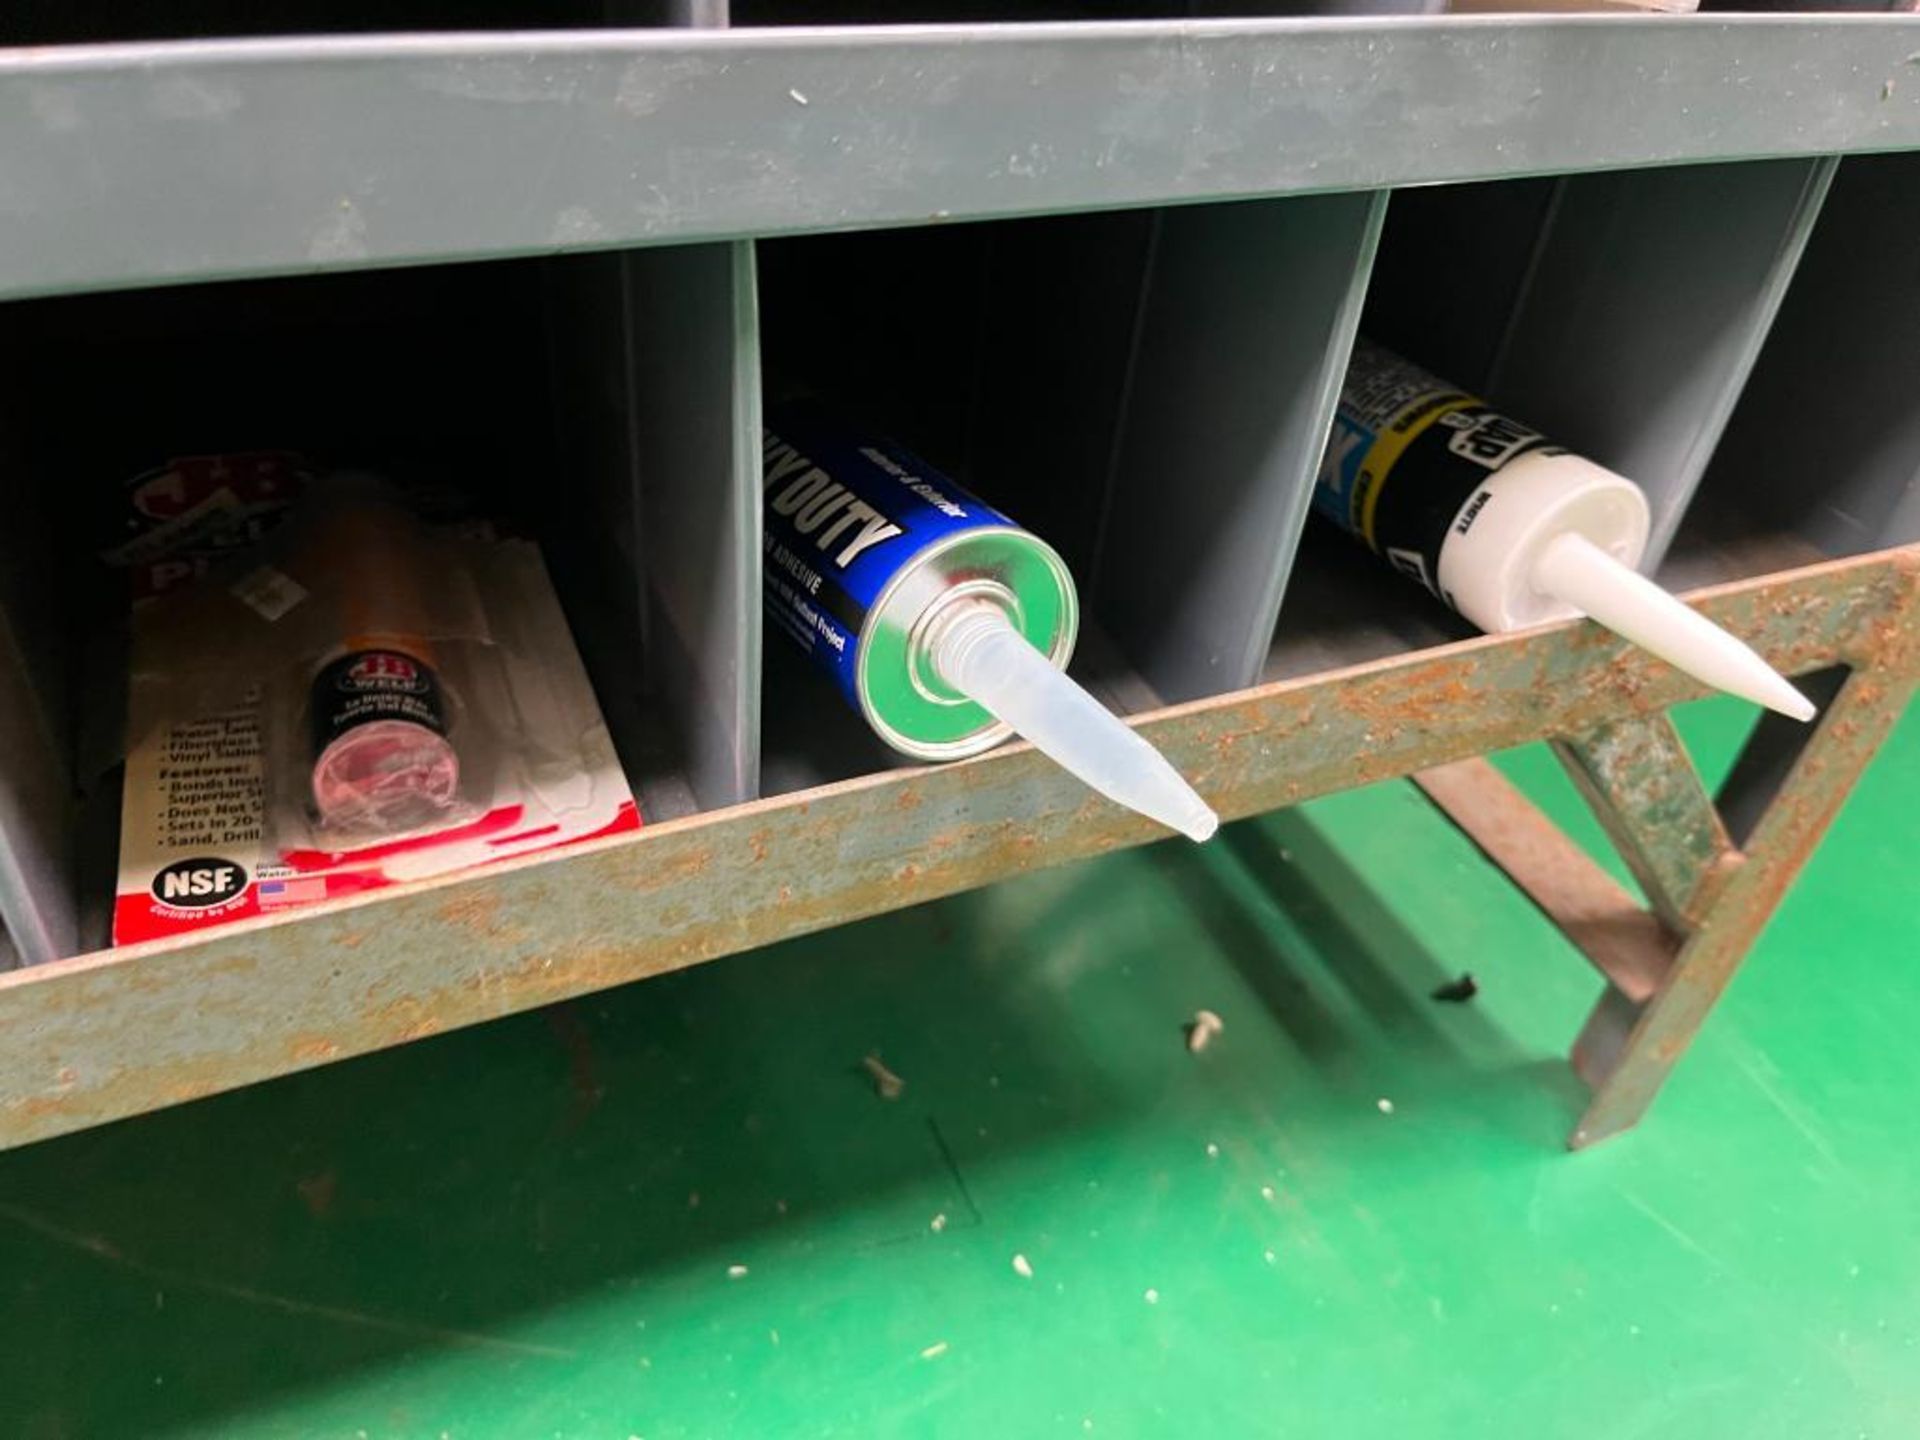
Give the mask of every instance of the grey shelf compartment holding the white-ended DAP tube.
MULTIPOLYGON (((1789 294, 1832 171, 1751 161, 1398 192, 1361 330, 1636 480, 1651 570, 1789 294)), ((1308 528, 1304 551, 1269 680, 1471 634, 1327 524, 1308 528)))

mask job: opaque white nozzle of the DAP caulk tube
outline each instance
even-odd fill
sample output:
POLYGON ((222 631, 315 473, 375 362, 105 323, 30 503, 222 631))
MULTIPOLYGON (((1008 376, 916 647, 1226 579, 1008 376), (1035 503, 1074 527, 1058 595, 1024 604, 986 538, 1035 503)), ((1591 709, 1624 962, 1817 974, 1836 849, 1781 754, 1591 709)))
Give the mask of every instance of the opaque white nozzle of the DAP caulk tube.
POLYGON ((1584 536, 1563 534, 1549 540, 1534 559, 1532 582, 1715 689, 1793 720, 1814 716, 1812 701, 1743 641, 1584 536))

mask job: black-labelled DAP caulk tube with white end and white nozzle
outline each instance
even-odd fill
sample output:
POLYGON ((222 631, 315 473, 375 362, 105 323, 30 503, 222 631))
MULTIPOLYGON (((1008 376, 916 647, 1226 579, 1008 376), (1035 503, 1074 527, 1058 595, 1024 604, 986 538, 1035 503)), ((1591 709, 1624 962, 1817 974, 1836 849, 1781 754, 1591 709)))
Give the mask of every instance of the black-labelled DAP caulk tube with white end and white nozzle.
POLYGON ((1313 509, 1480 630, 1586 614, 1715 689, 1814 714, 1745 643, 1634 570, 1647 547, 1640 486, 1367 340, 1313 509))

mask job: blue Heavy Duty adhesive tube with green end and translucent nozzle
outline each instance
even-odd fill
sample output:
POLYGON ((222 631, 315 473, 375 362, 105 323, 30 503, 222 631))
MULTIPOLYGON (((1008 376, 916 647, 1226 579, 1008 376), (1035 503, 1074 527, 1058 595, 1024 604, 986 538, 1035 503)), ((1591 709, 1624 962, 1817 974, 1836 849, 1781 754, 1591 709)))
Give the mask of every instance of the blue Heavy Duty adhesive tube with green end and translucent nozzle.
POLYGON ((1108 799, 1204 841, 1219 816, 1064 674, 1060 555, 925 461, 816 403, 764 438, 766 614, 883 741, 958 760, 1020 733, 1108 799))

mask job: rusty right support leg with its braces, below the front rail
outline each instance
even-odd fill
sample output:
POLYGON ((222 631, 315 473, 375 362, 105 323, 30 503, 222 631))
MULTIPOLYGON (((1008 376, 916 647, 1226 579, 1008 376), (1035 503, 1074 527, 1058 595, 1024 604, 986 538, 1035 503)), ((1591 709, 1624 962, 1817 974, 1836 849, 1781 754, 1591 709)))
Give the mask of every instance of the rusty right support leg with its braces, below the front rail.
MULTIPOLYGON (((1594 1098, 1569 1144, 1630 1129, 1693 1043, 1860 772, 1893 730, 1920 672, 1920 547, 1889 551, 1905 595, 1866 643, 1836 651, 1849 674, 1736 847, 1665 714, 1607 720, 1553 739, 1561 764, 1647 895, 1642 908, 1486 760, 1415 776, 1428 799, 1607 977, 1574 1041, 1594 1098)), ((1782 576, 1791 580, 1789 576, 1782 576)), ((1772 747, 1776 728, 1763 745, 1772 747)), ((1753 808, 1741 797, 1740 808, 1753 808)))

